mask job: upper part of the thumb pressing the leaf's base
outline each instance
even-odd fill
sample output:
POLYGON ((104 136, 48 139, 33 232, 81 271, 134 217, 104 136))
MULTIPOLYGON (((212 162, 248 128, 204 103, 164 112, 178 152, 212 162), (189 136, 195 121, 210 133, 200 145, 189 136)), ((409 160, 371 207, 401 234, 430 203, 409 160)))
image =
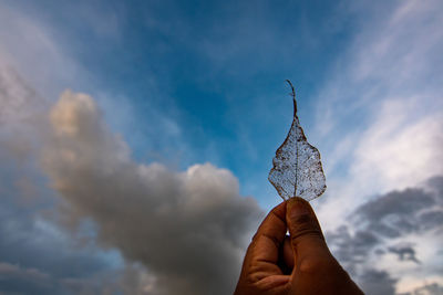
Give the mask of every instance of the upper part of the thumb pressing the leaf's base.
POLYGON ((290 198, 286 208, 286 222, 296 260, 329 253, 316 213, 308 201, 290 198))

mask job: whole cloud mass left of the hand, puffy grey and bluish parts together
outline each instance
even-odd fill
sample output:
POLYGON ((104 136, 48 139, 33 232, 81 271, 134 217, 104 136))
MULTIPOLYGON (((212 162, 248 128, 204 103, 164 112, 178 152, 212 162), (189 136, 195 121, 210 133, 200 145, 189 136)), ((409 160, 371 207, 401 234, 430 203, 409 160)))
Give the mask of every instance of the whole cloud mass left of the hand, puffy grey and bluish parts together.
POLYGON ((45 122, 48 103, 4 63, 0 85, 0 233, 8 236, 0 241, 0 261, 48 275, 40 282, 3 275, 2 292, 206 294, 214 288, 224 294, 234 288, 261 211, 238 196, 228 170, 210 164, 183 172, 137 165, 87 95, 64 93, 45 122), (60 200, 44 188, 35 162, 40 152, 47 171, 56 175, 51 180, 64 197, 60 200), (60 226, 72 230, 71 236, 60 226), (124 255, 124 265, 109 249, 124 255))

